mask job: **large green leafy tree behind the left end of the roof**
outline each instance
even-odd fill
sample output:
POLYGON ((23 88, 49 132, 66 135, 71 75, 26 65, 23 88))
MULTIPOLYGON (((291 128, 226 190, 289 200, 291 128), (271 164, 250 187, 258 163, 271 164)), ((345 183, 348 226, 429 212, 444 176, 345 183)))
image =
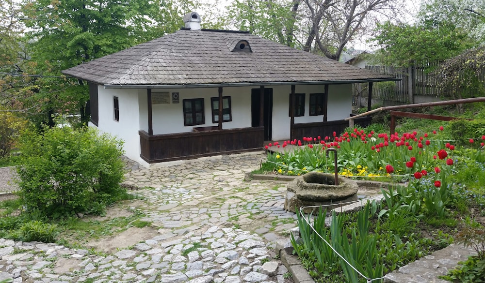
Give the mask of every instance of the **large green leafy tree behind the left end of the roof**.
POLYGON ((61 70, 120 51, 172 32, 181 26, 173 1, 146 0, 38 0, 24 2, 32 62, 43 78, 42 89, 49 121, 54 111, 79 110, 89 119, 87 86, 68 80, 61 70))

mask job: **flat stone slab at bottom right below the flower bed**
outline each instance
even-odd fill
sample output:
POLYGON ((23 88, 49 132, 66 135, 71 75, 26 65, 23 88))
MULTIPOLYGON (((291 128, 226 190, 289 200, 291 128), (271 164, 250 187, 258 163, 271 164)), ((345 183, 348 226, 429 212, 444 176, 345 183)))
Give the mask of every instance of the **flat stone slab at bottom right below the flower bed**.
POLYGON ((386 274, 384 283, 450 283, 438 276, 446 275, 458 266, 458 262, 467 260, 470 255, 476 255, 471 247, 451 244, 386 274))

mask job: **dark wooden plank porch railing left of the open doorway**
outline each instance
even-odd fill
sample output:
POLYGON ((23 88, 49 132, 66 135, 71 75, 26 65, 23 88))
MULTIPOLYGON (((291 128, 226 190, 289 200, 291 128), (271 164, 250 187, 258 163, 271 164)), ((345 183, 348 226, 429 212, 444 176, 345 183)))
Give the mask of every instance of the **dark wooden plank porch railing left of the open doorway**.
POLYGON ((140 156, 148 163, 260 150, 263 127, 149 135, 139 131, 140 156))

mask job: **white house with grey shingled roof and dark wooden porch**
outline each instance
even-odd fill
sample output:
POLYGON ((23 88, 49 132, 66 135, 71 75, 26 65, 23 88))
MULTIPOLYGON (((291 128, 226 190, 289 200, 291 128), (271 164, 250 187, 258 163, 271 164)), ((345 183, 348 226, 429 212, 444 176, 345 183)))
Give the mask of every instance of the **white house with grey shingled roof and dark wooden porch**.
POLYGON ((147 166, 340 131, 353 83, 395 80, 248 32, 201 30, 195 12, 184 22, 63 71, 89 83, 89 126, 122 138, 147 166))

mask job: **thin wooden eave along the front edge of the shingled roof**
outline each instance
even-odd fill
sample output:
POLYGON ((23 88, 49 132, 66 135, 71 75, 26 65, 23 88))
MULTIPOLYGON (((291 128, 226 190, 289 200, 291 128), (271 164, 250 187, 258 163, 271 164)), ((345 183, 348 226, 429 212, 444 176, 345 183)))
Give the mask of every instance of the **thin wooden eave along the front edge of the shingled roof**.
POLYGON ((299 81, 299 82, 256 82, 256 83, 218 83, 190 85, 104 85, 105 89, 197 89, 197 88, 228 88, 228 87, 259 87, 259 86, 291 86, 291 85, 342 85, 354 83, 400 81, 401 78, 375 78, 332 81, 299 81))

